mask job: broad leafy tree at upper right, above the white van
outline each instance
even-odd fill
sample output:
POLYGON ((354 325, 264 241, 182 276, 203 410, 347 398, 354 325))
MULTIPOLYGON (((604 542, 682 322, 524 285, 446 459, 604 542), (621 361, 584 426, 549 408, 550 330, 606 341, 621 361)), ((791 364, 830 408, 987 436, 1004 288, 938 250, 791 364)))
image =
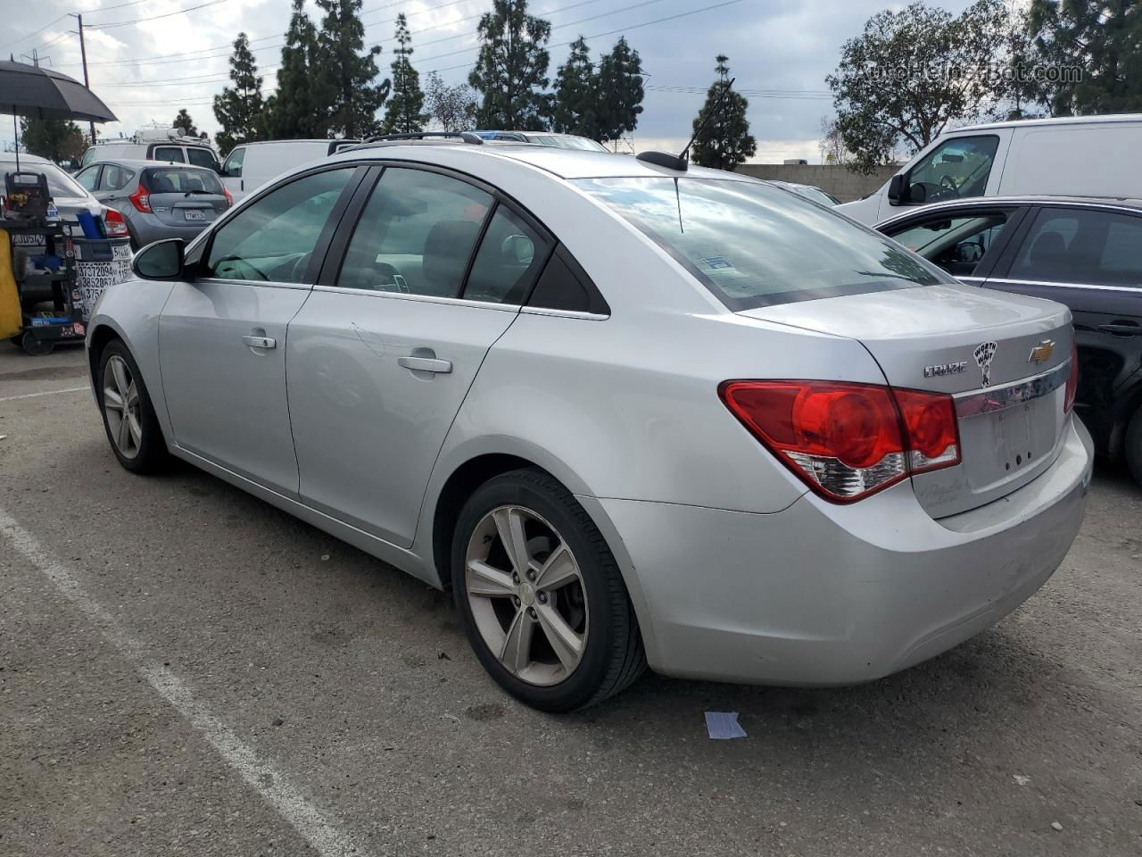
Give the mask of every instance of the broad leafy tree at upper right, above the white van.
POLYGON ((994 104, 1007 32, 1003 0, 976 0, 958 16, 916 0, 869 18, 826 78, 853 168, 871 173, 901 144, 915 152, 994 104))

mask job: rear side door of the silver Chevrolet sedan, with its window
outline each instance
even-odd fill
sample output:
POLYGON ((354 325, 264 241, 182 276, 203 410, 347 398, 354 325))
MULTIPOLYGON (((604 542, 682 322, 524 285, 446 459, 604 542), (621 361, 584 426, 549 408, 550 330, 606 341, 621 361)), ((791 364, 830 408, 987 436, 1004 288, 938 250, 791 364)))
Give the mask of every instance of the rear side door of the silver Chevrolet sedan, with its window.
POLYGON ((356 206, 339 267, 289 327, 300 494, 408 546, 452 419, 550 242, 490 189, 437 171, 389 167, 356 206))

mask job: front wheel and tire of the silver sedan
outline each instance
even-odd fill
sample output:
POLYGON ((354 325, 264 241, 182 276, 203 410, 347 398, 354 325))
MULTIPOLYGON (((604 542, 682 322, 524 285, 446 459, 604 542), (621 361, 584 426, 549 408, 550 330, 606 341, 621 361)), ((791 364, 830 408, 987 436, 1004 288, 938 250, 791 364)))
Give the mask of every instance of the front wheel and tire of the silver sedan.
POLYGON ((131 473, 161 470, 169 458, 167 443, 143 374, 121 339, 104 346, 95 381, 103 427, 115 458, 131 473))

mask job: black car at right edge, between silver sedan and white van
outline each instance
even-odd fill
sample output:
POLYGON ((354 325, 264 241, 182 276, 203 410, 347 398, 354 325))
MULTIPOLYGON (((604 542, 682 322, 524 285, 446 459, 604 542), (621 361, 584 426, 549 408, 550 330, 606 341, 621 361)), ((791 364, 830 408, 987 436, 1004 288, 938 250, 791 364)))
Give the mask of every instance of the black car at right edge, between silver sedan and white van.
POLYGON ((877 229, 964 282, 1069 306, 1076 411, 1097 450, 1125 456, 1142 483, 1142 201, 984 198, 912 209, 877 229))

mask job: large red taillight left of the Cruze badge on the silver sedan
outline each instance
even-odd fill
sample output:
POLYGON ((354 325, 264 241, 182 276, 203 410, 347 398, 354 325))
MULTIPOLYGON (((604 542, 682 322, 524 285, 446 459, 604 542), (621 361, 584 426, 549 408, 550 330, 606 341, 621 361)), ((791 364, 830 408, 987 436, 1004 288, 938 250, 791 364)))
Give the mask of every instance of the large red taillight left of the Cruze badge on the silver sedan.
POLYGON ((727 381, 722 401, 817 494, 852 503, 959 464, 951 397, 825 381, 727 381))

